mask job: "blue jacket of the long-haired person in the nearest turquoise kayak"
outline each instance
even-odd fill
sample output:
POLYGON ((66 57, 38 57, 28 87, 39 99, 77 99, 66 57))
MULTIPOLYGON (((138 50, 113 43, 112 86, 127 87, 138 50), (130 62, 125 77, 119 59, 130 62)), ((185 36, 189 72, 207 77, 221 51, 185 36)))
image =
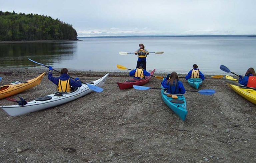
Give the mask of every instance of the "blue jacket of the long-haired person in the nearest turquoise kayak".
POLYGON ((170 85, 168 84, 167 79, 165 78, 161 84, 164 88, 167 88, 167 93, 172 93, 172 94, 184 94, 186 92, 186 89, 184 88, 183 84, 181 81, 178 81, 177 86, 174 84, 175 81, 173 81, 173 84, 170 85), (176 88, 177 87, 177 88, 176 88), (176 89, 176 91, 175 91, 176 89))

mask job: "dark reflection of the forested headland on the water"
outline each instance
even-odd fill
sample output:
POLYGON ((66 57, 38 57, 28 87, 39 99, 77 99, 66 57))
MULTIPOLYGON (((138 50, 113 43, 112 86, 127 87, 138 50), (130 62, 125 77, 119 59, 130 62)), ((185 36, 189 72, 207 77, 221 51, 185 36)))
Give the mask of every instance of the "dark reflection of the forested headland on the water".
POLYGON ((61 58, 72 59, 77 42, 43 42, 0 44, 1 67, 39 67, 31 58, 45 65, 61 62, 61 58))

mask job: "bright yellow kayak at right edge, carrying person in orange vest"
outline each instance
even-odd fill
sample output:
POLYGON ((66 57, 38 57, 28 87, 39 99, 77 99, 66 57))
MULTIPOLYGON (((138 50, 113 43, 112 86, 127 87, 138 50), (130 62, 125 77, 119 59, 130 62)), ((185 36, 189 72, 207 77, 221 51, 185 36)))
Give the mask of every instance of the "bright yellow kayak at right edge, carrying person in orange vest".
MULTIPOLYGON (((237 79, 226 75, 226 79, 230 79, 232 81, 238 82, 237 79)), ((254 89, 250 88, 245 88, 245 87, 240 87, 236 85, 232 85, 227 83, 229 87, 231 87, 235 92, 237 92, 239 95, 247 99, 248 101, 251 101, 252 103, 256 104, 256 91, 254 89)))

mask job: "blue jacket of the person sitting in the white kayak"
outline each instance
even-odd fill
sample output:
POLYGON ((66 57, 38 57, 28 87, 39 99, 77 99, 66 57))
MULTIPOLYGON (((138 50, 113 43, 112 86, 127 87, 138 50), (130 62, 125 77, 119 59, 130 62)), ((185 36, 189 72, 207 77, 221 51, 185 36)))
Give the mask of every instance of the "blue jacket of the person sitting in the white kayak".
MULTIPOLYGON (((67 75, 67 74, 61 74, 60 77, 54 78, 54 77, 52 76, 52 72, 49 72, 49 73, 48 73, 48 79, 49 79, 50 81, 52 81, 54 84, 56 84, 56 85, 59 84, 59 79, 62 80, 62 81, 66 81, 66 80, 68 80, 69 78, 70 78, 70 77, 69 77, 69 75, 67 75)), ((81 81, 74 81, 73 79, 70 79, 70 80, 69 80, 69 84, 70 84, 70 86, 72 86, 72 87, 81 87, 81 86, 82 86, 81 81)))

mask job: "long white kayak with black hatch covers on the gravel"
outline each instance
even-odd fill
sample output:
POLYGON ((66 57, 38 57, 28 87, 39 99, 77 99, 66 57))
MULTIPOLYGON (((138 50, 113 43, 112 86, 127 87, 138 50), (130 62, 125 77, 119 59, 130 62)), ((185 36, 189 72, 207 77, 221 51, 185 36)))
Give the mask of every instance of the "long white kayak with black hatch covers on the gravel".
MULTIPOLYGON (((92 85, 99 86, 99 87, 103 86, 108 75, 109 73, 107 73, 104 77, 96 81, 92 81, 93 82, 92 85)), ((79 87, 76 91, 71 93, 50 94, 45 97, 36 98, 33 101, 29 101, 24 106, 8 105, 8 106, 0 106, 0 108, 2 108, 7 114, 11 116, 22 115, 22 114, 30 113, 33 111, 54 107, 69 101, 73 101, 92 91, 93 91, 92 89, 90 89, 86 84, 83 83, 81 87, 79 87)))

